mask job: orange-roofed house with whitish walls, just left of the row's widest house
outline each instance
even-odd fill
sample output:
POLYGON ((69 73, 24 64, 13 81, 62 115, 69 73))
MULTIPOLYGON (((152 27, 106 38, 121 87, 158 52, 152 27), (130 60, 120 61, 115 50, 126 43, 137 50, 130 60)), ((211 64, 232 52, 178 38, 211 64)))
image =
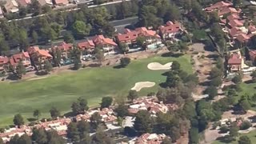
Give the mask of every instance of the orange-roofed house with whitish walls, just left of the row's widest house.
POLYGON ((95 46, 100 46, 106 54, 115 54, 117 51, 117 46, 113 39, 105 38, 103 35, 96 35, 93 38, 95 46))

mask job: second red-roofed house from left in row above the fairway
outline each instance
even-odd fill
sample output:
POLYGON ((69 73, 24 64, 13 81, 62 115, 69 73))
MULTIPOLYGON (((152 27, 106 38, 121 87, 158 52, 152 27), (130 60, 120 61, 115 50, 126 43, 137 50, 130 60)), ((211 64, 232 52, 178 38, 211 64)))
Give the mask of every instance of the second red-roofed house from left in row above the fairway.
POLYGON ((22 52, 20 54, 14 54, 10 57, 10 65, 14 68, 18 66, 18 62, 22 62, 23 66, 31 66, 30 54, 28 52, 22 52))

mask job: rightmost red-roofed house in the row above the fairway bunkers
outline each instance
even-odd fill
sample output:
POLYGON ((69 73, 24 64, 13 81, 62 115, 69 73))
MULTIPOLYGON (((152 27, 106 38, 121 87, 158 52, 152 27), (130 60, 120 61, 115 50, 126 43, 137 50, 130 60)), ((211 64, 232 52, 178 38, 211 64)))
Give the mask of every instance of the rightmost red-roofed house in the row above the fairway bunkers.
POLYGON ((160 26, 160 35, 164 41, 174 40, 177 34, 182 34, 182 27, 179 22, 166 22, 166 26, 160 26))

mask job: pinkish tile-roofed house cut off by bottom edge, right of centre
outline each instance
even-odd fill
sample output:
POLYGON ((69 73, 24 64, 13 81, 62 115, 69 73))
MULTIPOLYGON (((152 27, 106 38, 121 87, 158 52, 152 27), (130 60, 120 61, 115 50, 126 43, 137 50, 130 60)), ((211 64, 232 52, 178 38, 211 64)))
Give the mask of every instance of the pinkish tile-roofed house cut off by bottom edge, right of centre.
POLYGON ((161 144, 166 134, 142 134, 136 140, 135 144, 161 144))

